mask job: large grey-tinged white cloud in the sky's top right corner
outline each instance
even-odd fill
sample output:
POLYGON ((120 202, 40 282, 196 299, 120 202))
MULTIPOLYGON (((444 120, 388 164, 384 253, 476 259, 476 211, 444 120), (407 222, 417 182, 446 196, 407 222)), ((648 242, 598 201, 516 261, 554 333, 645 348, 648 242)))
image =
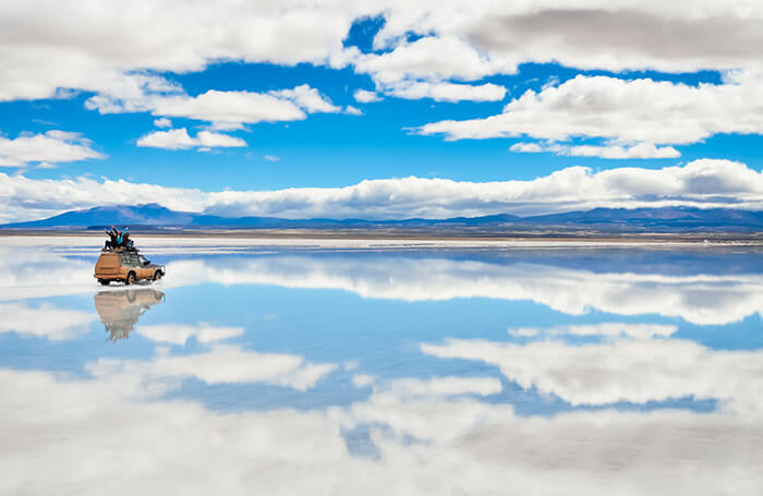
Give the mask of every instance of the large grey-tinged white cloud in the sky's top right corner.
MULTIPOLYGON (((387 22, 375 39, 376 48, 399 47, 403 51, 402 48, 415 45, 404 43, 407 33, 413 32, 438 47, 451 44, 446 53, 455 53, 452 65, 447 61, 437 65, 431 59, 424 59, 421 65, 433 65, 433 72, 451 68, 446 74, 480 77, 497 71, 510 72, 517 64, 530 61, 558 61, 571 68, 610 71, 736 69, 759 64, 753 47, 763 43, 756 28, 763 9, 743 0, 723 5, 711 0, 670 4, 592 0, 564 5, 554 0, 485 0, 436 5, 438 9, 429 2, 407 2, 388 9, 387 22), (714 36, 707 36, 708 33, 714 36), (724 43, 717 43, 718 39, 724 43), (469 55, 468 49, 474 53, 469 55), (457 66, 459 62, 463 69, 457 66)), ((397 62, 403 57, 388 59, 397 62)), ((409 56, 404 61, 411 59, 409 56)), ((402 62, 395 69, 404 69, 402 62)))

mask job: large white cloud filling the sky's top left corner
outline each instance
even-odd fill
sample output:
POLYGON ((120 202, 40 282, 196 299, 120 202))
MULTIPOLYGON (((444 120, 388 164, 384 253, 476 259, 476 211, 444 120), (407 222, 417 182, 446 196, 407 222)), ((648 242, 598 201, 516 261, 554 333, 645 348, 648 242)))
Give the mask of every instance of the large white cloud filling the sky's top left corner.
POLYGON ((220 60, 334 66, 348 59, 342 40, 362 14, 349 3, 296 1, 213 7, 107 0, 90 9, 73 0, 35 0, 27 7, 0 5, 7 22, 0 100, 49 98, 58 88, 108 96, 140 71, 201 71, 220 60))

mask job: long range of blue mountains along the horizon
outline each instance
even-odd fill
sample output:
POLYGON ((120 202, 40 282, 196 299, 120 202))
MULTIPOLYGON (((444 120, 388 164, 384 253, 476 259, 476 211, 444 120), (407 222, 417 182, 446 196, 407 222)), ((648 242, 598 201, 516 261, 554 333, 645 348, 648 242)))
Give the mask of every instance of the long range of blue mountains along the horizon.
POLYGON ((594 208, 544 216, 509 214, 449 219, 281 219, 277 217, 221 217, 174 211, 157 204, 95 207, 68 211, 48 219, 15 222, 0 229, 434 229, 504 231, 532 229, 596 230, 604 232, 762 231, 763 211, 727 208, 594 208))

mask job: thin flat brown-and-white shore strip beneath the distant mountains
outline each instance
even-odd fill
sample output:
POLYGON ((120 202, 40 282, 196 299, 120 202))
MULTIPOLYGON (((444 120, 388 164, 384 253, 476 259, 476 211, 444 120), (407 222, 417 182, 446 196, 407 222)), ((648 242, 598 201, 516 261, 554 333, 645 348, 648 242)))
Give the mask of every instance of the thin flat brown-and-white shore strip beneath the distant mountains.
MULTIPOLYGON (((136 238, 230 238, 251 240, 387 240, 421 242, 530 242, 555 243, 574 242, 590 244, 744 244, 763 245, 763 232, 627 232, 602 233, 590 231, 439 231, 439 230, 385 230, 385 229, 199 229, 175 230, 157 229, 150 231, 131 231, 136 238)), ((104 233, 93 230, 40 230, 40 229, 3 229, 0 237, 92 237, 104 238, 104 233)))

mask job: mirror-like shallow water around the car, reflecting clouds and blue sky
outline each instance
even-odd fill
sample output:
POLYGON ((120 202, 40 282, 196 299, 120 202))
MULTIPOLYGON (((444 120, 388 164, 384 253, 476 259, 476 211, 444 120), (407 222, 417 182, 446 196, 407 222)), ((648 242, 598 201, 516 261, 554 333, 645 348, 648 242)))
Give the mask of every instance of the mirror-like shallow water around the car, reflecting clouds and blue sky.
POLYGON ((0 238, 0 494, 763 493, 759 250, 253 243, 0 238))

